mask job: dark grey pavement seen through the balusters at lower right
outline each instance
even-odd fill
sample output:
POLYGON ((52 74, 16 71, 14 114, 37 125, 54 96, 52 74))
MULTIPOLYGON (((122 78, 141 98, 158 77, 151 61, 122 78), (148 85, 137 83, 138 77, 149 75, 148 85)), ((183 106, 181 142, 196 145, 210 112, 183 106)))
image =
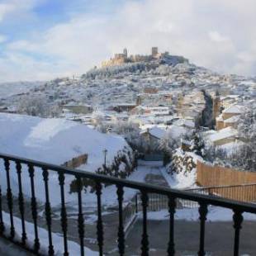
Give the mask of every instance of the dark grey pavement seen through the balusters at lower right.
MULTIPOLYGON (((138 220, 126 237, 126 254, 140 254, 142 220, 138 220)), ((197 255, 198 221, 175 220, 175 247, 178 256, 197 255)), ((149 220, 150 255, 164 256, 168 244, 168 220, 149 220)), ((256 222, 245 220, 241 230, 240 255, 256 255, 256 222)), ((206 252, 211 256, 233 255, 234 228, 230 221, 206 222, 206 252)))

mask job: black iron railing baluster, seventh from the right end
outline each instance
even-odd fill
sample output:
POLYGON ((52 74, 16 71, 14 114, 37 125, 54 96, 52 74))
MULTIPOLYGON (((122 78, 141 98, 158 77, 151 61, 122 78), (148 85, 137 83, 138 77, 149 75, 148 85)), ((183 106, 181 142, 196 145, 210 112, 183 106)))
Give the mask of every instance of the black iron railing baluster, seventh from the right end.
POLYGON ((83 245, 84 220, 83 220, 83 205, 82 205, 83 184, 79 176, 77 176, 76 179, 77 179, 77 185, 78 185, 78 234, 80 239, 81 256, 83 256, 84 255, 84 247, 83 247, 84 246, 83 245))

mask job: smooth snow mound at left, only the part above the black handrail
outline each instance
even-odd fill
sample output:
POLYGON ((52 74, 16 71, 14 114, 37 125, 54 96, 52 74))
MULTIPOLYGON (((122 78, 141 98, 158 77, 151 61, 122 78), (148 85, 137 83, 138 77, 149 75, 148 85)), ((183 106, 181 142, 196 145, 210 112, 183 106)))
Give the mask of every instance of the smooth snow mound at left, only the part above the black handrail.
POLYGON ((64 119, 45 119, 0 113, 0 152, 50 164, 64 162, 88 154, 84 168, 95 171, 104 162, 103 149, 112 162, 117 152, 128 147, 117 135, 107 135, 88 126, 64 119))

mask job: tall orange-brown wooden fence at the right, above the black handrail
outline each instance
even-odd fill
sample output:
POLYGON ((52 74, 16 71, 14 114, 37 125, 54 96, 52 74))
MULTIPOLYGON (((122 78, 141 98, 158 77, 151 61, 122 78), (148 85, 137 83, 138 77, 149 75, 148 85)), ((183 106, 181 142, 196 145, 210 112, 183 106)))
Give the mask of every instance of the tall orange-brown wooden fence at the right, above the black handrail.
POLYGON ((209 189, 208 193, 212 195, 238 201, 256 201, 256 173, 253 172, 197 161, 197 184, 209 189))

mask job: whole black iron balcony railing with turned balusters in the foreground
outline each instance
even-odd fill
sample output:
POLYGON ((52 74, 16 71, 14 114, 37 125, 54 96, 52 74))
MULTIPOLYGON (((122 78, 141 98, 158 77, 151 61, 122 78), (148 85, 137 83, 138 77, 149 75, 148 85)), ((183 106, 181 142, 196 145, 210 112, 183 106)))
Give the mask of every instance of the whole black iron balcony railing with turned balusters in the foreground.
MULTIPOLYGON (((97 195, 97 245, 99 255, 103 254, 104 251, 104 225, 102 222, 102 184, 112 184, 116 185, 116 200, 118 202, 118 232, 116 234, 117 238, 117 247, 120 255, 124 255, 126 252, 126 239, 125 239, 125 225, 124 225, 124 193, 125 188, 129 187, 135 189, 137 192, 140 192, 141 198, 140 201, 137 201, 137 204, 140 203, 142 216, 143 216, 143 230, 141 235, 141 255, 149 255, 149 235, 147 230, 147 212, 148 207, 150 205, 149 194, 154 193, 157 195, 161 195, 165 198, 168 198, 168 211, 169 211, 169 237, 168 244, 166 247, 166 251, 168 255, 175 254, 175 244, 174 244, 174 216, 175 209, 177 206, 177 200, 186 200, 193 201, 199 205, 199 219, 200 219, 200 240, 199 240, 199 250, 198 255, 205 255, 205 224, 206 224, 206 216, 207 216, 207 207, 209 205, 212 206, 220 206, 231 209, 234 211, 233 220, 234 220, 234 228, 235 228, 235 241, 234 241, 234 255, 239 255, 239 234, 241 225, 243 222, 243 213, 249 212, 256 214, 256 206, 253 204, 239 202, 239 201, 231 201, 219 197, 211 197, 208 195, 197 194, 193 192, 186 191, 178 191, 166 187, 158 187, 145 183, 137 183, 131 182, 126 179, 119 178, 111 178, 95 173, 89 173, 81 170, 73 170, 70 168, 59 167, 54 164, 45 164, 38 161, 30 160, 30 159, 21 159, 12 155, 0 154, 0 159, 4 161, 4 169, 0 170, 0 180, 1 183, 5 183, 7 187, 7 208, 10 216, 9 223, 5 223, 2 217, 2 191, 0 189, 0 236, 5 237, 11 240, 13 243, 17 243, 21 245, 24 249, 31 250, 35 254, 40 254, 40 237, 38 235, 38 202, 36 199, 36 190, 35 190, 35 173, 41 171, 41 178, 45 184, 45 219, 46 219, 46 227, 48 229, 48 255, 55 254, 55 246, 52 239, 52 209, 50 206, 50 197, 49 197, 49 175, 50 172, 58 173, 59 175, 59 184, 55 184, 55 186, 59 187, 60 201, 59 204, 61 206, 61 217, 60 223, 62 226, 62 235, 63 235, 63 243, 64 243, 64 255, 69 255, 69 247, 68 247, 68 217, 67 217, 67 209, 65 203, 65 193, 64 193, 64 182, 65 177, 67 175, 73 176, 76 179, 76 183, 78 186, 77 189, 77 201, 78 201, 78 237, 80 242, 80 254, 84 255, 84 215, 83 215, 83 183, 82 179, 90 179, 94 181, 96 184, 96 195, 97 195), (15 164, 15 167, 13 167, 15 164), (12 166, 12 168, 10 168, 12 166), (22 166, 27 166, 30 177, 30 186, 31 186, 31 216, 34 224, 34 244, 33 248, 29 246, 27 243, 27 234, 26 234, 26 225, 24 219, 24 195, 23 195, 23 187, 22 187, 22 174, 23 170, 22 166), (21 216, 21 226, 22 226, 22 237, 20 241, 15 239, 15 226, 13 222, 13 194, 12 187, 10 181, 10 173, 14 172, 15 169, 17 171, 17 186, 18 186, 18 203, 19 203, 19 211, 21 216), (5 173, 5 177, 4 177, 5 173), (10 230, 7 231, 7 225, 10 226, 10 230)), ((13 174, 13 173, 12 173, 13 174)), ((38 177, 37 177, 38 178, 38 177)), ((164 202, 165 203, 165 202, 164 202)), ((154 203, 152 202, 152 205, 154 203)), ((26 209, 27 210, 27 209, 26 209)), ((184 249, 186 249, 186 244, 184 244, 184 249)))

